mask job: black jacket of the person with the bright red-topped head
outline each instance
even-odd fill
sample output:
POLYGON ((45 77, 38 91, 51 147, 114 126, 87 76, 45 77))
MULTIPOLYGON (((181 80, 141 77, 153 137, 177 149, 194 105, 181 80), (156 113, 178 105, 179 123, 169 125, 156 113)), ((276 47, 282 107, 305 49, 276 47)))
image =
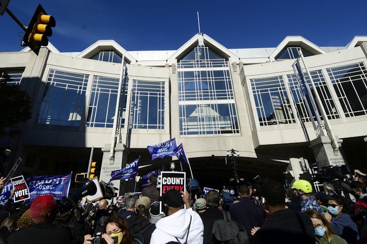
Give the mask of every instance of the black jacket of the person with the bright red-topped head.
POLYGON ((56 228, 50 224, 32 224, 21 228, 9 236, 9 244, 72 244, 72 235, 65 228, 56 228))

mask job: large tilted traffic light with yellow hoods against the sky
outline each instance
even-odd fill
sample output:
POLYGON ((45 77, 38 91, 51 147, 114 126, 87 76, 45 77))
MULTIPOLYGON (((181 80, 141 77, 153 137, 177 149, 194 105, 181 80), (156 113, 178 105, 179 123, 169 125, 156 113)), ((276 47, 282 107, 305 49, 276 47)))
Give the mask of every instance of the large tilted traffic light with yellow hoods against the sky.
POLYGON ((38 55, 41 46, 48 45, 47 36, 52 35, 51 27, 55 27, 55 25, 55 18, 47 15, 41 4, 39 4, 24 33, 23 42, 38 55))

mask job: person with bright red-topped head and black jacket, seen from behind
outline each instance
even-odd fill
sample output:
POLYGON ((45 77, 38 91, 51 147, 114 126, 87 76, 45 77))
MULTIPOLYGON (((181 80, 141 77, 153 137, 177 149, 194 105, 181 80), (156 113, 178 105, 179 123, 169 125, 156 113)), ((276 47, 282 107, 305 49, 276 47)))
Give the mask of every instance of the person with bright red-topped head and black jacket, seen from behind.
POLYGON ((31 204, 29 213, 34 223, 20 228, 9 236, 9 244, 69 244, 70 231, 52 226, 56 216, 56 202, 52 195, 38 196, 31 204))

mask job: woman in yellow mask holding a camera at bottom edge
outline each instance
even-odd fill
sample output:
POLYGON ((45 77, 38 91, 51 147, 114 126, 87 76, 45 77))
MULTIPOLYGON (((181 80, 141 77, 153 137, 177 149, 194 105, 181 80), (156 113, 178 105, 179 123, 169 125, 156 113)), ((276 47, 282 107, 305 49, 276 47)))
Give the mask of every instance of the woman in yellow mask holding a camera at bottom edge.
POLYGON ((85 235, 83 244, 135 244, 128 225, 120 216, 112 215, 106 219, 102 233, 97 233, 93 236, 85 235))

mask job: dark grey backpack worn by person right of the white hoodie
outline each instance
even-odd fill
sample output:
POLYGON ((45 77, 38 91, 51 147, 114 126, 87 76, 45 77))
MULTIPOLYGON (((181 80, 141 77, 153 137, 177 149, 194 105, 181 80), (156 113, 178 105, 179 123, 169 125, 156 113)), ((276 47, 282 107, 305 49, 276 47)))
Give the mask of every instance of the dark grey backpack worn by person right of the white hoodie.
POLYGON ((217 219, 213 225, 213 235, 222 244, 250 244, 247 231, 234 220, 227 211, 223 211, 224 219, 217 219))

